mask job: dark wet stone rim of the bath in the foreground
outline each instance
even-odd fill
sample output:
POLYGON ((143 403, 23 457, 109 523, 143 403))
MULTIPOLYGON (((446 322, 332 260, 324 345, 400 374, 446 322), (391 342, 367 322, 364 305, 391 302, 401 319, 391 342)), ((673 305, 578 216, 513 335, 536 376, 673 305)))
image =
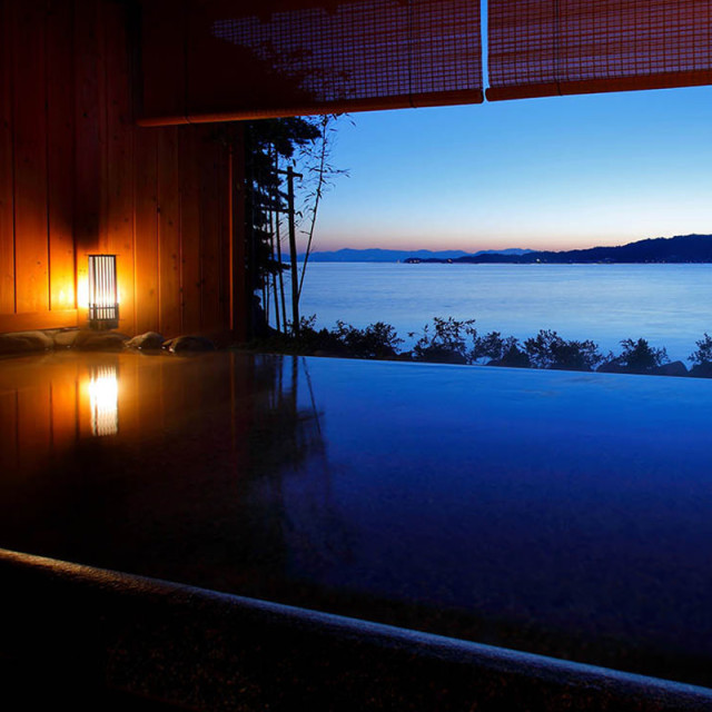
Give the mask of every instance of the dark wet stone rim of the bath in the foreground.
POLYGON ((10 688, 34 680, 26 700, 48 693, 90 709, 119 694, 156 710, 712 709, 706 688, 6 550, 0 575, 13 612, 0 675, 12 671, 2 681, 10 688))

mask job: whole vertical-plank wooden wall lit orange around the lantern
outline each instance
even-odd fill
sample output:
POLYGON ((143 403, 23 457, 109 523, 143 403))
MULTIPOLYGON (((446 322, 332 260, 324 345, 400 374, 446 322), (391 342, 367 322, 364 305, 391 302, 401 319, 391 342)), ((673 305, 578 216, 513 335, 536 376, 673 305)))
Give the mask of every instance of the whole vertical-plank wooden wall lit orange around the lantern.
POLYGON ((135 125, 134 12, 0 0, 0 332, 83 325, 93 251, 118 255, 119 330, 230 328, 239 127, 135 125))

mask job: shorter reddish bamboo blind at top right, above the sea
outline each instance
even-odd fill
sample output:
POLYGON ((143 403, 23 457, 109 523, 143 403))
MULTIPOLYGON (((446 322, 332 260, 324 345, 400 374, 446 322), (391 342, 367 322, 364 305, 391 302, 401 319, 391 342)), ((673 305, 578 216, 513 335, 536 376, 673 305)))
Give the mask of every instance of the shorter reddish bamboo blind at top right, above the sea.
POLYGON ((712 83, 710 0, 490 0, 487 99, 712 83))

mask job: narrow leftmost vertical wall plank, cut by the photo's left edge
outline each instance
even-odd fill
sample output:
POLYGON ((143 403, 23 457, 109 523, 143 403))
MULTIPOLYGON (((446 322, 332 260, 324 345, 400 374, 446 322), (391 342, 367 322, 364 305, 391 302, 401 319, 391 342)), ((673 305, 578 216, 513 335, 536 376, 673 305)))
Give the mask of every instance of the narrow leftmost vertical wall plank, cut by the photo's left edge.
POLYGON ((0 0, 0 314, 14 313, 12 40, 10 0, 0 0))

